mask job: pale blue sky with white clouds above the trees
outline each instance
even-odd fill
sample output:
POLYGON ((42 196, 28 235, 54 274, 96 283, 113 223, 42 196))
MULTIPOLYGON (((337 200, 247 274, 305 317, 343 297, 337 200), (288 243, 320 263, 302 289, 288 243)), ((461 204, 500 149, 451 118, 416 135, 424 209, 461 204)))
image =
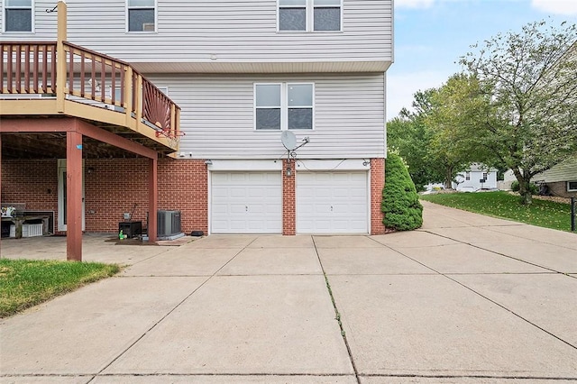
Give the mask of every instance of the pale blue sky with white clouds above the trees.
POLYGON ((471 45, 541 20, 577 23, 577 0, 394 0, 395 53, 387 71, 387 120, 418 90, 441 87, 471 45))

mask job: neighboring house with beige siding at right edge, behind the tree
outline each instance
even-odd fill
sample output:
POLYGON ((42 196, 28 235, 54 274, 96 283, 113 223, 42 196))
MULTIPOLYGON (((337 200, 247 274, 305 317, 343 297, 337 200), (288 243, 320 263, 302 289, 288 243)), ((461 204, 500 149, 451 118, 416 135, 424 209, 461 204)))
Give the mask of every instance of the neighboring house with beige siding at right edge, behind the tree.
POLYGON ((534 183, 545 183, 548 193, 558 197, 577 197, 577 157, 564 160, 532 178, 534 183))

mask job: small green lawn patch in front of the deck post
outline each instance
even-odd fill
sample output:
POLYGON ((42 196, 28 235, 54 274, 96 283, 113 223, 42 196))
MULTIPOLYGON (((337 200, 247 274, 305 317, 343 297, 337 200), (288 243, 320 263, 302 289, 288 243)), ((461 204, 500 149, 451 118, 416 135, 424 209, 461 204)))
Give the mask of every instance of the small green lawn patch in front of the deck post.
POLYGON ((0 259, 0 318, 118 273, 117 265, 0 259))

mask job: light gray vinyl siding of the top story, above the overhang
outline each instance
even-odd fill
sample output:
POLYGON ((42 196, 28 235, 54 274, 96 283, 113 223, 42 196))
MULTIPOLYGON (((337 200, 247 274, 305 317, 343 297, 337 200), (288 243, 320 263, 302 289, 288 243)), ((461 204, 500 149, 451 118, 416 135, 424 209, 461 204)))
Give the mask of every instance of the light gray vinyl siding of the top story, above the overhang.
MULTIPOLYGON (((55 4, 36 0, 35 33, 2 38, 56 40, 57 14, 45 12, 55 4)), ((392 60, 392 0, 343 0, 343 32, 277 32, 276 0, 158 0, 157 32, 136 33, 125 32, 125 1, 67 4, 69 41, 131 62, 392 60)))

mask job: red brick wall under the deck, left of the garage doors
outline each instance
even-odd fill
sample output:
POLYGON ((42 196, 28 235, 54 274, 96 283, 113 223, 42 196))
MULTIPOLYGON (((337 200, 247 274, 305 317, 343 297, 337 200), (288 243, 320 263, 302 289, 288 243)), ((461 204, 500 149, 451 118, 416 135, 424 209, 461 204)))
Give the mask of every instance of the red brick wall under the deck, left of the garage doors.
MULTIPOLYGON (((123 213, 146 225, 148 159, 85 161, 86 231, 115 233, 123 213)), ((3 160, 2 202, 54 211, 58 223, 57 160, 3 160)), ((207 232, 208 187, 204 160, 159 160, 159 209, 181 211, 182 231, 207 232)))

